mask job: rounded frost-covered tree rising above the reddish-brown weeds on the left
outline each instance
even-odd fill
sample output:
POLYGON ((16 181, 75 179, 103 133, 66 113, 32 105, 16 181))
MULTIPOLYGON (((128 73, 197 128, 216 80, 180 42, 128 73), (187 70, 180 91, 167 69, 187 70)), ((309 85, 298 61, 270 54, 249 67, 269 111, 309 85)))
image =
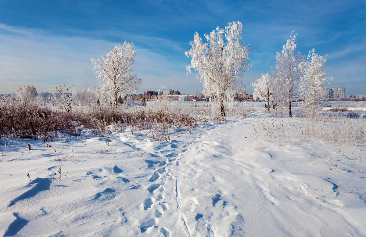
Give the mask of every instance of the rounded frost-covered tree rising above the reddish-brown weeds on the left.
POLYGON ((134 74, 134 58, 136 51, 132 49, 134 44, 124 42, 123 45, 116 45, 114 49, 99 58, 91 59, 94 64, 94 72, 101 80, 102 90, 114 99, 117 107, 117 100, 120 94, 137 91, 142 85, 142 79, 134 74))

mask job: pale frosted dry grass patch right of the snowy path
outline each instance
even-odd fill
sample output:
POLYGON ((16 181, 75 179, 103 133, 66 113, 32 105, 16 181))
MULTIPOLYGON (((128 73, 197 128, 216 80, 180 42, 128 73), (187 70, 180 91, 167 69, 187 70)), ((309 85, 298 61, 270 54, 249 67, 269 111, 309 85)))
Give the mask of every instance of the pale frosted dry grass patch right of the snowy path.
POLYGON ((314 138, 325 144, 366 146, 366 120, 362 117, 271 118, 258 121, 251 130, 258 138, 274 139, 278 145, 314 138))

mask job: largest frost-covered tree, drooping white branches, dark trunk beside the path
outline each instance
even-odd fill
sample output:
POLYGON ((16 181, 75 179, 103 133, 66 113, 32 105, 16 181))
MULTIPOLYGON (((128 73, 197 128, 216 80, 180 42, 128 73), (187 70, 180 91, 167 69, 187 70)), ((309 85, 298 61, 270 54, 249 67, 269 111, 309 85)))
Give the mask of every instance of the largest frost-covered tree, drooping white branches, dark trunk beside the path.
POLYGON ((225 29, 217 27, 205 38, 208 43, 203 44, 196 32, 190 41, 192 48, 186 56, 192 60, 186 68, 187 74, 191 68, 198 71, 203 94, 210 100, 219 98, 221 116, 225 116, 224 101, 245 87, 242 78, 250 66, 248 54, 252 48, 242 41, 242 23, 238 21, 229 22, 225 29))

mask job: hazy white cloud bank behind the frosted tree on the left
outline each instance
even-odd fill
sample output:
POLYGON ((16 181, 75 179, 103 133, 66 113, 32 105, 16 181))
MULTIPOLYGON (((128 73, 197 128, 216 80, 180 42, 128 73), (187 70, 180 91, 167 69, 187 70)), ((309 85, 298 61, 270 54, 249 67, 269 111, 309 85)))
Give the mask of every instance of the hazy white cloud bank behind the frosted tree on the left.
MULTIPOLYGON (((159 41, 182 50, 163 38, 145 37, 144 40, 159 41)), ((38 91, 48 91, 59 83, 72 83, 79 89, 98 86, 90 58, 107 53, 115 44, 117 42, 51 35, 0 24, 0 82, 3 85, 0 93, 15 92, 22 84, 34 84, 38 91)), ((198 89, 202 87, 194 76, 187 78, 186 65, 149 49, 138 46, 134 49, 137 51, 135 73, 143 78, 140 91, 155 90, 164 84, 176 86, 178 90, 192 89, 192 85, 198 89)))

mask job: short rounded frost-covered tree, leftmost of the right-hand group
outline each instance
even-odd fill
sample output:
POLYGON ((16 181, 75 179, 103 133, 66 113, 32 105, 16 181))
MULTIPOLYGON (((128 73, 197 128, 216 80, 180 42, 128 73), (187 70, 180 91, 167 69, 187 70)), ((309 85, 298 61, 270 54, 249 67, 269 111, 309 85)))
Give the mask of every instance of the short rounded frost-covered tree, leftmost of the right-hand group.
POLYGON ((269 103, 273 103, 273 93, 275 92, 274 77, 268 73, 262 74, 262 77, 251 83, 254 88, 253 99, 262 99, 267 103, 267 110, 269 111, 269 103))

